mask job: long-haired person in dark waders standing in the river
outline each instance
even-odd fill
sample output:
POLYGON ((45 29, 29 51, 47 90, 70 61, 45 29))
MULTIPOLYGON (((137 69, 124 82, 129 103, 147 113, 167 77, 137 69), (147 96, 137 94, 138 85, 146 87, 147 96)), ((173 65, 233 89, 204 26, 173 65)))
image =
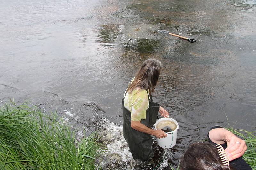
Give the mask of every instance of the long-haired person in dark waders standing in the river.
POLYGON ((123 134, 134 159, 146 161, 153 155, 152 137, 163 138, 161 129, 153 130, 158 112, 163 117, 169 113, 152 100, 162 63, 148 59, 142 63, 136 76, 128 84, 122 99, 123 134))

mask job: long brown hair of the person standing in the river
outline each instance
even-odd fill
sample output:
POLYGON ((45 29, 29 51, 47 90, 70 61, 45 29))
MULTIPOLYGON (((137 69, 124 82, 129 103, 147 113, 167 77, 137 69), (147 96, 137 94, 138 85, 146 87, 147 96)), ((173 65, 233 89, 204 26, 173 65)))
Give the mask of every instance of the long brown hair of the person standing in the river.
POLYGON ((127 88, 127 92, 132 92, 135 89, 149 90, 149 93, 154 92, 162 67, 162 63, 156 59, 144 61, 127 88))

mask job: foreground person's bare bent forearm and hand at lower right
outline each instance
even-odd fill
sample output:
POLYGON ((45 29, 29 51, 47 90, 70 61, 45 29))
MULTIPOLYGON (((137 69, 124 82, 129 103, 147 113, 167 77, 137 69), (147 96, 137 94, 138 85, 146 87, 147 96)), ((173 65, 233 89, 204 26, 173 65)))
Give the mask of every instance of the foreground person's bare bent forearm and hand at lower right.
POLYGON ((242 156, 247 149, 244 140, 224 128, 212 129, 209 131, 209 138, 216 144, 227 143, 225 152, 230 161, 242 156))

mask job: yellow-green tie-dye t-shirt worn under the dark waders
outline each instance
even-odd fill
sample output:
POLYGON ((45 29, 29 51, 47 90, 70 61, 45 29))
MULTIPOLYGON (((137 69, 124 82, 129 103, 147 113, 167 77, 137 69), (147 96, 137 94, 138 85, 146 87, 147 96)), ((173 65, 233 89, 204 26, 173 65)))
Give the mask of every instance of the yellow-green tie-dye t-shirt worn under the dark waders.
POLYGON ((148 109, 148 94, 146 90, 133 90, 126 93, 124 98, 124 107, 132 112, 131 120, 140 121, 146 119, 146 110, 148 109))

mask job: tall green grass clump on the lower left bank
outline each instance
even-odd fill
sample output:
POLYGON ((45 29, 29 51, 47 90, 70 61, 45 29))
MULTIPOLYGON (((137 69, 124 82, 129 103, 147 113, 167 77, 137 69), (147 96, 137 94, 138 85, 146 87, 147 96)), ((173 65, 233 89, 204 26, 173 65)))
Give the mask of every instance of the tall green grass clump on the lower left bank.
POLYGON ((95 136, 92 133, 79 142, 56 114, 47 116, 25 104, 4 105, 0 107, 0 169, 95 169, 95 159, 105 151, 95 136))

